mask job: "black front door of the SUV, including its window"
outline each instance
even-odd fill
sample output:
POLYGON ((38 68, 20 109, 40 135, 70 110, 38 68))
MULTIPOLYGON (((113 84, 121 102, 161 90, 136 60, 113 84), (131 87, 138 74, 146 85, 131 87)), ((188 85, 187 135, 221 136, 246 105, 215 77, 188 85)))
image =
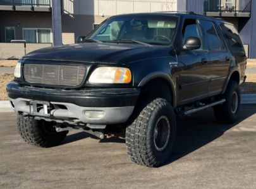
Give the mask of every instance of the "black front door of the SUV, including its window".
POLYGON ((186 50, 178 55, 180 66, 180 105, 207 98, 210 83, 210 58, 205 50, 204 40, 198 21, 186 19, 183 25, 183 41, 187 37, 198 37, 202 46, 197 50, 186 50))

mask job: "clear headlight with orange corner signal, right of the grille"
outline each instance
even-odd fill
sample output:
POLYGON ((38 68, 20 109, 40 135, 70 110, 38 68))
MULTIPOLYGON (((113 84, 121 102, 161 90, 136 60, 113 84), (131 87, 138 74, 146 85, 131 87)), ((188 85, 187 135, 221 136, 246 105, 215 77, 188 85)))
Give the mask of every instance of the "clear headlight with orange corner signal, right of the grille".
POLYGON ((130 83, 131 71, 125 67, 98 67, 89 78, 90 83, 130 83))

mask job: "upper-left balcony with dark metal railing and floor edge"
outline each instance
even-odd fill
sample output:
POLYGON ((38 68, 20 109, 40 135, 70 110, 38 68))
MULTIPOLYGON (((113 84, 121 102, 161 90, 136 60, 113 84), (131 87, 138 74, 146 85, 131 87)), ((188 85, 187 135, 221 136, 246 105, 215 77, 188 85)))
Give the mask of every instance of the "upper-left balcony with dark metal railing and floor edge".
POLYGON ((51 12, 51 0, 0 0, 0 11, 51 12))

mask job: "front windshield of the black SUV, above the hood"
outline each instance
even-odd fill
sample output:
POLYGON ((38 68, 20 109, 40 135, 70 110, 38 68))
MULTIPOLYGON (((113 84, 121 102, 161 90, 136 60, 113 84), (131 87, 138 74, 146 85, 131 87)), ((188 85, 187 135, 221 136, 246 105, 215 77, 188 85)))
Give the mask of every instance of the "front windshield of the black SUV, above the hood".
POLYGON ((175 16, 155 14, 115 16, 98 26, 86 40, 170 45, 173 42, 177 22, 178 18, 175 16))

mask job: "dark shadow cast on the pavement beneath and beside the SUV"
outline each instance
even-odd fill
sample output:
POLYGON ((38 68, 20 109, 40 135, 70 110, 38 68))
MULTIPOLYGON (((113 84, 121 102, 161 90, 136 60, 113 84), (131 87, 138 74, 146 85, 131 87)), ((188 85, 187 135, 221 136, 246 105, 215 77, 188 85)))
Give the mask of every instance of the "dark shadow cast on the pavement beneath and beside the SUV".
MULTIPOLYGON (((238 123, 243 122, 243 120, 246 120, 248 117, 255 113, 255 105, 241 105, 238 120, 235 123, 229 125, 218 123, 214 117, 212 108, 194 113, 190 117, 176 117, 177 134, 173 152, 168 161, 164 163, 164 165, 172 163, 181 157, 184 157, 191 152, 200 149, 200 147, 209 144, 213 140, 221 137, 224 132, 235 127, 238 125, 238 123)), ((86 139, 88 137, 99 140, 93 135, 87 134, 85 132, 79 132, 76 134, 68 135, 66 139, 61 142, 61 145, 75 142, 77 140, 86 139)), ((125 144, 125 140, 118 139, 116 137, 111 139, 105 138, 99 140, 99 142, 115 142, 125 144)))

